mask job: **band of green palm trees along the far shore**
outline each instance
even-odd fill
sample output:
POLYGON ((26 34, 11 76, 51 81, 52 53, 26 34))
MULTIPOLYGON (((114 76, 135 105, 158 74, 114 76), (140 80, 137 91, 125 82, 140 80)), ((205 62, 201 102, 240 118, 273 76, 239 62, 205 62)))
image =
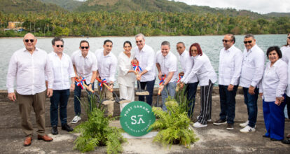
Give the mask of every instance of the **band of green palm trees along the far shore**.
POLYGON ((32 32, 36 36, 197 36, 223 34, 286 34, 290 31, 290 18, 258 18, 230 16, 220 13, 163 13, 130 12, 109 13, 2 13, 0 36, 23 36, 32 32), (8 22, 23 22, 25 31, 4 31, 8 22))

